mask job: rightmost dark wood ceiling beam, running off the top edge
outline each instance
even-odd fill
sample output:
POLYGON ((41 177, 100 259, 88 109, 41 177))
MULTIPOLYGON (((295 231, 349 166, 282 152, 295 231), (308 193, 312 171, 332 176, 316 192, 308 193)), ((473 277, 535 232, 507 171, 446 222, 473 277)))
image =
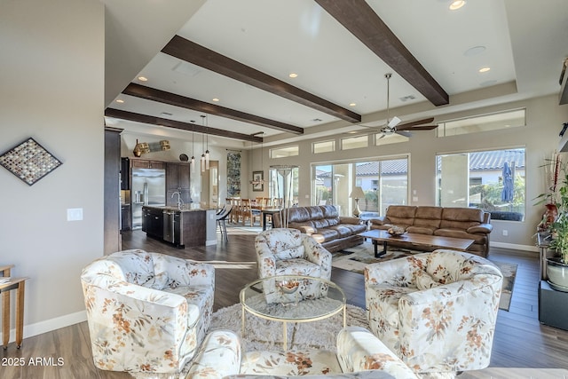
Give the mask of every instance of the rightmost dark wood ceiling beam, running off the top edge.
POLYGON ((435 106, 449 104, 444 89, 373 11, 365 0, 315 0, 353 36, 435 106))

